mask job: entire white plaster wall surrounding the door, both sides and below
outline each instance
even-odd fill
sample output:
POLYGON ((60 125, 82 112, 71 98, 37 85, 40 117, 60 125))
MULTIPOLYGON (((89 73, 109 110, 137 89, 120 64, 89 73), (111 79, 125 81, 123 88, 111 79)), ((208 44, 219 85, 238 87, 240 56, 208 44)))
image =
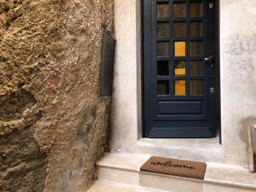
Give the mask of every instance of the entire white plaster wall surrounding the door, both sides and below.
POLYGON ((247 166, 246 126, 256 122, 256 1, 220 0, 221 121, 217 139, 141 139, 140 0, 115 0, 112 152, 247 166))

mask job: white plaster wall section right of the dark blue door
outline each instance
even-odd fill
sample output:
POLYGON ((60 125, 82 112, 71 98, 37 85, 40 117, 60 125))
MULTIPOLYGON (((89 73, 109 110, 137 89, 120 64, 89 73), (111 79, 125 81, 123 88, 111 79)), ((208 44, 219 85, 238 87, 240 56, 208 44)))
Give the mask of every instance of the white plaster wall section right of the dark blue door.
POLYGON ((220 1, 220 72, 226 160, 247 165, 246 127, 256 122, 256 1, 220 1))

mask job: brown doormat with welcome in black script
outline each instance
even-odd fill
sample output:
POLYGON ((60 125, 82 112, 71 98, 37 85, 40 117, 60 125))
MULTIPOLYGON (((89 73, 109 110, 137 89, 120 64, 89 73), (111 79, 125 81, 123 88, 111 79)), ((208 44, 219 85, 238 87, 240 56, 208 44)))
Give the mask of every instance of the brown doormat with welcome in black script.
POLYGON ((190 160, 176 160, 163 157, 150 157, 141 166, 141 171, 158 172, 167 175, 204 179, 207 164, 190 160))

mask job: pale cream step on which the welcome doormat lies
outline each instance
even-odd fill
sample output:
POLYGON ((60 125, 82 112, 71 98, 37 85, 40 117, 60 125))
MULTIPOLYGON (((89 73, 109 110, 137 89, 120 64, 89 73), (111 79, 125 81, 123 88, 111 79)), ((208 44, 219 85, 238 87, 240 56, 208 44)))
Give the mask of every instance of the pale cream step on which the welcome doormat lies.
POLYGON ((139 171, 148 158, 141 154, 105 154, 96 162, 96 176, 99 181, 170 192, 256 192, 256 174, 241 167, 207 164, 205 179, 198 180, 139 171))

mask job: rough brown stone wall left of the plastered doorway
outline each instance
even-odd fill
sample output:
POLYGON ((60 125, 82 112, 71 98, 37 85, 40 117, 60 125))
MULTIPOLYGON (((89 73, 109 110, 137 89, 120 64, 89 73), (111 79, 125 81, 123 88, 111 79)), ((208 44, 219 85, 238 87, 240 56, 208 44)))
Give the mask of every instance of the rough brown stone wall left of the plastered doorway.
POLYGON ((85 191, 105 148, 112 0, 0 0, 0 191, 85 191))

